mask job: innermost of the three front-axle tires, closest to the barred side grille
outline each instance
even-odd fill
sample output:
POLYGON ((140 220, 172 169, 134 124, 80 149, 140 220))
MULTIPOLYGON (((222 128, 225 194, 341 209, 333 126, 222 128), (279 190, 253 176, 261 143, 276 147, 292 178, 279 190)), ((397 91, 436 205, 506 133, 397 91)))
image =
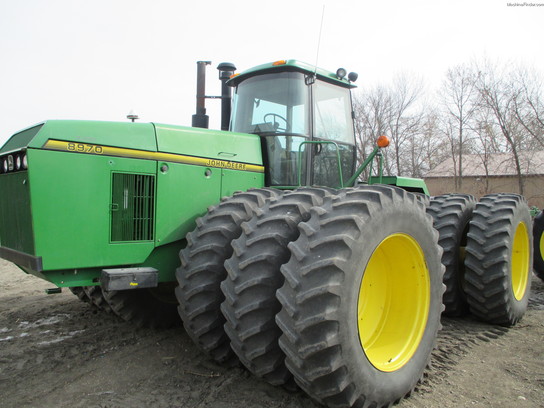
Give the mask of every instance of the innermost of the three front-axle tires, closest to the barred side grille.
POLYGON ((230 243, 240 236, 241 224, 279 194, 278 190, 254 189, 224 199, 196 220, 197 227, 187 234, 187 246, 180 252, 181 266, 176 270, 179 315, 187 334, 218 362, 234 363, 236 359, 221 313, 225 300, 221 282, 227 277, 224 263, 232 255, 230 243))

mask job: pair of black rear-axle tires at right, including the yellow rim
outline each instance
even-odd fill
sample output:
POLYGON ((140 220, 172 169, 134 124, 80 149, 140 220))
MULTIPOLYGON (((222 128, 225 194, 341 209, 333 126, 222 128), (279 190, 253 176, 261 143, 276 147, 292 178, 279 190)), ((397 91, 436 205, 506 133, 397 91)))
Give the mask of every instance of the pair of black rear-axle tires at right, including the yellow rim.
POLYGON ((445 314, 470 311, 505 326, 519 321, 527 309, 532 265, 525 199, 490 194, 476 203, 470 195, 448 194, 433 197, 427 212, 444 250, 445 314))

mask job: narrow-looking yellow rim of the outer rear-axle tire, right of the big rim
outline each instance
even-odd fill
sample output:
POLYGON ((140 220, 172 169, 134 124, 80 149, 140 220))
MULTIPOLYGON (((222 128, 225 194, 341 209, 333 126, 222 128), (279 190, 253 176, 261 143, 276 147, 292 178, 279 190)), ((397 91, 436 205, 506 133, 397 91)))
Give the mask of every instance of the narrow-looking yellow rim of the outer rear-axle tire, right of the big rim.
MULTIPOLYGON (((542 248, 542 243, 541 243, 542 248)), ((512 245, 512 291, 517 300, 523 299, 529 280, 529 235, 525 223, 520 222, 512 245)))

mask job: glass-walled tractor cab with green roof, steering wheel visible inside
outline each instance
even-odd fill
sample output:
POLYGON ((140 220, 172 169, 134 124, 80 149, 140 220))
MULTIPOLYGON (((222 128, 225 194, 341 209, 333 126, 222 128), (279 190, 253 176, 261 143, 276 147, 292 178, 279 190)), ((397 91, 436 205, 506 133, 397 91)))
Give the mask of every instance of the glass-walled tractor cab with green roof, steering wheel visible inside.
POLYGON ((230 130, 261 136, 268 186, 342 187, 354 174, 355 86, 344 76, 342 69, 335 74, 289 60, 230 79, 230 130))

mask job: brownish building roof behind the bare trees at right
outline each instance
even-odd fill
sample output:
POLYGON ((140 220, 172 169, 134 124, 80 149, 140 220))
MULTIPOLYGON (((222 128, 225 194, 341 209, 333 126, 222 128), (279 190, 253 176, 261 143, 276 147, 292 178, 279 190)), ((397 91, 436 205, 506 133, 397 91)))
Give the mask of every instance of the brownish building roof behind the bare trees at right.
MULTIPOLYGON (((519 154, 521 169, 525 175, 544 175, 544 151, 523 151, 519 154)), ((453 159, 443 161, 431 169, 425 178, 453 177, 453 159)), ((512 153, 493 153, 487 156, 487 172, 484 166, 484 155, 463 155, 463 177, 516 176, 516 165, 512 153)))

